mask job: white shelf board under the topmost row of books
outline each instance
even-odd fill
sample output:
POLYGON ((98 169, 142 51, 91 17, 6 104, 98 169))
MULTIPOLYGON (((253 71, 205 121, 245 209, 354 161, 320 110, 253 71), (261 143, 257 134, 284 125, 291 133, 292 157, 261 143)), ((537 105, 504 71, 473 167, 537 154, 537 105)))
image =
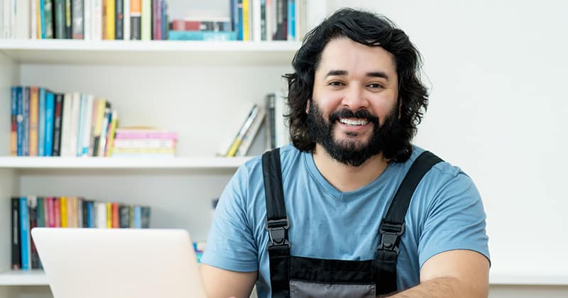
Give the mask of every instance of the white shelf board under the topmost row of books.
POLYGON ((300 42, 0 40, 18 63, 81 65, 290 65, 300 42))

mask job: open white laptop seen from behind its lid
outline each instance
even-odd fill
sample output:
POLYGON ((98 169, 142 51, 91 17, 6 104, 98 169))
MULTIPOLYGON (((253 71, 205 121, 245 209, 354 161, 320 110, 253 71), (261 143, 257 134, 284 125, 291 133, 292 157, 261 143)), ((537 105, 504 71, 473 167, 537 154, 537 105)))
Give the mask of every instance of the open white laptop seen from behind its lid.
POLYGON ((206 297, 178 229, 33 228, 54 298, 206 297))

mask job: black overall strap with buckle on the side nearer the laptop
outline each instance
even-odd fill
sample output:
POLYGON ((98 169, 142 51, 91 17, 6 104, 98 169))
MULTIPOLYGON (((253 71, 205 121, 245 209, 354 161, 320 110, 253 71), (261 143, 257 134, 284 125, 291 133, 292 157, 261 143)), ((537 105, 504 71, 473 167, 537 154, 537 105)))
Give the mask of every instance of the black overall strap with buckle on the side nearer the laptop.
POLYGON ((272 297, 290 297, 290 243, 288 216, 284 204, 280 149, 262 155, 264 192, 266 194, 266 230, 271 268, 272 297))

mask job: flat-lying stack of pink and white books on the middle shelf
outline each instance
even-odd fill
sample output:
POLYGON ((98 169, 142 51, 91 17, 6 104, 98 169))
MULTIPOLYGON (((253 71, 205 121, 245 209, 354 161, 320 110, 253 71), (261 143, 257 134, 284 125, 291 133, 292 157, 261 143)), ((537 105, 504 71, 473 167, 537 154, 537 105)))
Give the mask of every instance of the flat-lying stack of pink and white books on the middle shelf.
POLYGON ((178 133, 158 128, 116 128, 111 156, 116 158, 173 158, 178 133))

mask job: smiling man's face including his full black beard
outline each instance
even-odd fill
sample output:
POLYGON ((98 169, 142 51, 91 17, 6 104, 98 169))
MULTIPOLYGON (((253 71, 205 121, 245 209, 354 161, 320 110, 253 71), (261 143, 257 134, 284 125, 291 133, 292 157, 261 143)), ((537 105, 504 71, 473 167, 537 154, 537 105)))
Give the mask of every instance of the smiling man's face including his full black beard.
POLYGON ((310 134, 332 158, 359 166, 381 153, 398 123, 398 77, 390 53, 348 38, 325 46, 306 111, 310 134))

